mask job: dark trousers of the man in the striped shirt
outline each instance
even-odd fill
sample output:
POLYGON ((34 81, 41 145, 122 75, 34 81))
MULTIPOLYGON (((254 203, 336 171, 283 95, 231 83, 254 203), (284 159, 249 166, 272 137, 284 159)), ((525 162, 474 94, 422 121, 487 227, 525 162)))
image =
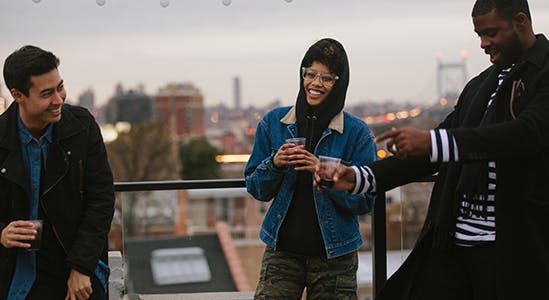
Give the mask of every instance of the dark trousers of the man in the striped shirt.
POLYGON ((432 250, 415 278, 411 300, 496 300, 493 244, 432 250))

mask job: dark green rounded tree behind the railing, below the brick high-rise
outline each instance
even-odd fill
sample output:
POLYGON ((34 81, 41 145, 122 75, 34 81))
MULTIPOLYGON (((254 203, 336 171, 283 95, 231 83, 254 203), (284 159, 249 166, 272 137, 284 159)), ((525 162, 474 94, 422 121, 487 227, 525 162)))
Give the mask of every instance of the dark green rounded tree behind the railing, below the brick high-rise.
POLYGON ((216 179, 219 178, 220 164, 215 160, 219 151, 210 145, 204 137, 191 139, 179 147, 181 178, 216 179))

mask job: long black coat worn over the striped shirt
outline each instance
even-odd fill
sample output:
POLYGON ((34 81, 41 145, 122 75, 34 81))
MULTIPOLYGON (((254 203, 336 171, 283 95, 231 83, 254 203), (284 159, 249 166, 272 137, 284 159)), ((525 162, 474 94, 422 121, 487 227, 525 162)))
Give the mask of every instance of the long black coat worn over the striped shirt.
POLYGON ((439 126, 454 134, 460 162, 437 166, 427 158, 391 158, 371 166, 378 191, 439 172, 416 246, 376 299, 408 299, 426 255, 453 242, 461 164, 478 160, 497 165, 498 299, 549 299, 549 42, 537 36, 496 96, 496 124, 478 127, 499 71, 491 66, 473 78, 439 126), (512 85, 519 81, 524 89, 515 91, 511 107, 512 85))

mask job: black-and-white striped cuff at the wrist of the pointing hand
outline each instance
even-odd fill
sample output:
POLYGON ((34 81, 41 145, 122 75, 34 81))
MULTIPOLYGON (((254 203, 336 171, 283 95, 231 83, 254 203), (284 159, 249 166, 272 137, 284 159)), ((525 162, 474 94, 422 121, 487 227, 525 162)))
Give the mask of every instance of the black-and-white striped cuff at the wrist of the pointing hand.
POLYGON ((459 151, 450 130, 433 129, 431 134, 431 162, 457 162, 459 151))

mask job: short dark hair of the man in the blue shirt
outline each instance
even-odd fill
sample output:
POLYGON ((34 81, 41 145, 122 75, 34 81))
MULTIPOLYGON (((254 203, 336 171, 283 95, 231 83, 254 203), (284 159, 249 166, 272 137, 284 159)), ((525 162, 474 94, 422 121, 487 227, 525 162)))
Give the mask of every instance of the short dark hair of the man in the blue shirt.
POLYGON ((59 58, 53 53, 36 46, 23 46, 4 61, 6 87, 9 90, 17 89, 28 97, 32 87, 31 76, 48 73, 58 66, 59 58))

